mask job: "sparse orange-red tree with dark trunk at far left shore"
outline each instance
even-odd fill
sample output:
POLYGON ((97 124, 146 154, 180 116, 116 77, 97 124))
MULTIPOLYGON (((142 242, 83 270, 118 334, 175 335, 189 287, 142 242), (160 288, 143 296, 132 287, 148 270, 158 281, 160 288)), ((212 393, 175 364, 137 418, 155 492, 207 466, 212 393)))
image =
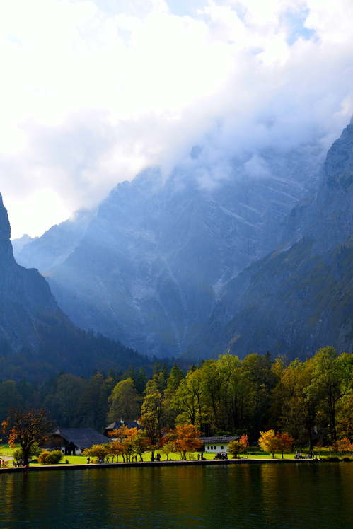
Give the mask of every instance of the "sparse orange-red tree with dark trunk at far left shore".
POLYGON ((52 436, 54 424, 44 408, 18 407, 8 410, 2 423, 8 444, 14 448, 19 444, 23 450, 23 464, 28 465, 30 448, 34 443, 44 443, 52 436))

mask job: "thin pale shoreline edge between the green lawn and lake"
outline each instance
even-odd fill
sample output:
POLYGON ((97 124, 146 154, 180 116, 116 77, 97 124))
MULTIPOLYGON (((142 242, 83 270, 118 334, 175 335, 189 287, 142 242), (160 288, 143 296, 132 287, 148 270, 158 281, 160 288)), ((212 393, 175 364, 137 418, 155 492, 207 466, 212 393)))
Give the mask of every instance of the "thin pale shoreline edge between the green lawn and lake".
POLYGON ((1 473, 13 473, 13 472, 40 472, 41 470, 88 470, 88 469, 103 469, 103 468, 127 468, 127 467, 173 467, 178 465, 248 465, 248 464, 260 464, 264 465, 267 463, 322 463, 318 460, 312 459, 228 459, 228 460, 204 460, 204 461, 134 461, 131 463, 83 463, 82 465, 71 465, 71 464, 59 464, 59 465, 36 465, 33 467, 5 467, 1 468, 1 473))

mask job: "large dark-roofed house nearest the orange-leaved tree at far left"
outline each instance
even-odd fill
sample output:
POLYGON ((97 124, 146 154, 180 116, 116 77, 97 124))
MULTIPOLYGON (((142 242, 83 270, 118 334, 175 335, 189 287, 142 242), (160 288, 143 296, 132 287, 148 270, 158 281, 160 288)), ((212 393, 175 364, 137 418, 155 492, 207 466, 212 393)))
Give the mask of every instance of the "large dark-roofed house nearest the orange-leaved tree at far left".
POLYGON ((42 448, 62 450, 64 455, 80 455, 86 448, 103 443, 110 443, 110 439, 93 428, 57 428, 42 448))

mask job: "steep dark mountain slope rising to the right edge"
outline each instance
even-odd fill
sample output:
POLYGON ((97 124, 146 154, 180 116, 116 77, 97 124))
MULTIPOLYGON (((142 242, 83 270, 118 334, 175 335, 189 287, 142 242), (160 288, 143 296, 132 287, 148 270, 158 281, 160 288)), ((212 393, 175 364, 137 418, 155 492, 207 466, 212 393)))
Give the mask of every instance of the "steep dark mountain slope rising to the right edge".
POLYGON ((352 122, 328 151, 318 191, 291 212, 289 236, 224 287, 185 356, 268 349, 305 359, 328 344, 353 350, 352 122))

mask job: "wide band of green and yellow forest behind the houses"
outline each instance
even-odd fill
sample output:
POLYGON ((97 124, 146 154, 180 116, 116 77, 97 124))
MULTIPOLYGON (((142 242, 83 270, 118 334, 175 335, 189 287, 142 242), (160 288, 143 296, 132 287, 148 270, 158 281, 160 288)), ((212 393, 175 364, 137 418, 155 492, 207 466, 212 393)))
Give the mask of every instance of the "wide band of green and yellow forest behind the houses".
POLYGON ((71 373, 41 385, 25 378, 1 380, 0 422, 8 409, 45 407, 58 426, 92 426, 103 431, 116 420, 137 419, 156 437, 192 424, 204 436, 287 432, 296 446, 313 447, 353 438, 353 354, 325 347, 306 361, 270 354, 244 360, 224 354, 187 370, 156 361, 124 373, 93 371, 85 379, 71 373))

